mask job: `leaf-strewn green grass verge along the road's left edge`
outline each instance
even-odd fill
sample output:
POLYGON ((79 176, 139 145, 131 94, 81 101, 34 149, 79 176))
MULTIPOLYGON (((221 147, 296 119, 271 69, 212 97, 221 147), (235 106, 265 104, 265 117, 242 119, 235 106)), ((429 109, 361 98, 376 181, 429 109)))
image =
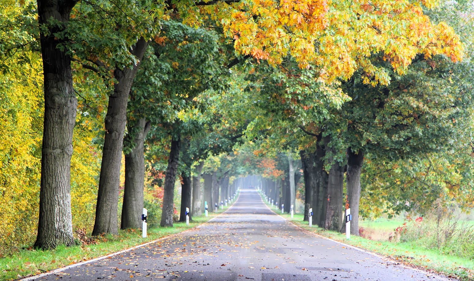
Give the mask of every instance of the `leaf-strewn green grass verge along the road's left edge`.
POLYGON ((59 246, 55 250, 47 251, 21 250, 0 259, 0 280, 13 280, 48 272, 69 264, 91 260, 168 235, 177 234, 209 221, 229 207, 224 207, 223 210, 218 209, 217 213, 210 212, 207 217, 204 215, 193 216, 189 226, 184 222, 177 222, 173 223, 173 227, 149 227, 146 238, 142 238, 141 230, 120 230, 118 235, 105 235, 96 238, 98 244, 72 247, 59 246))

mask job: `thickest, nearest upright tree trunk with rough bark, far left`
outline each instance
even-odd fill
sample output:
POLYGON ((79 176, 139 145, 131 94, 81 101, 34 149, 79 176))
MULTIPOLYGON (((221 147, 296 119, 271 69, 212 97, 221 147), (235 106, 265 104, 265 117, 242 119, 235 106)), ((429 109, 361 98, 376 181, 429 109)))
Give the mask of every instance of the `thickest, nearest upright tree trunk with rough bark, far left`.
POLYGON ((69 21, 77 1, 38 0, 39 24, 50 18, 61 24, 47 25, 40 34, 45 87, 45 117, 41 152, 38 233, 35 248, 54 249, 73 241, 71 216, 71 156, 77 99, 73 89, 71 58, 57 48, 55 37, 69 21))

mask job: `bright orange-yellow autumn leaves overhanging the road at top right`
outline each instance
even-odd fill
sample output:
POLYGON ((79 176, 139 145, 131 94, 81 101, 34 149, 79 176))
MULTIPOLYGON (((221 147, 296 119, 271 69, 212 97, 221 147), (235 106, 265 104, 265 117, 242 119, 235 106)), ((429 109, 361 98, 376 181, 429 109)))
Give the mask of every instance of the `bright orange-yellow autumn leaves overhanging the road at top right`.
POLYGON ((443 54, 454 62, 462 58, 464 47, 453 28, 444 22, 435 25, 423 14, 423 6, 430 9, 437 4, 436 0, 249 0, 206 5, 200 12, 221 22, 243 55, 273 65, 291 55, 301 68, 319 69, 322 81, 350 78, 362 69, 367 73, 365 83, 388 84, 389 75, 373 65, 373 56, 389 61, 399 74, 418 54, 426 58, 443 54))

